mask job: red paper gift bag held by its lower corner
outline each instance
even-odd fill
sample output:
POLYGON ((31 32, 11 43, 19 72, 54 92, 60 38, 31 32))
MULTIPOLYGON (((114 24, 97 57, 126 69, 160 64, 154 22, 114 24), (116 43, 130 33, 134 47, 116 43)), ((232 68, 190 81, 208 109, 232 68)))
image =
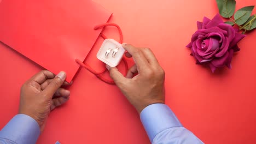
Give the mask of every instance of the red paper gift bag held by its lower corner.
POLYGON ((2 0, 0 41, 70 82, 111 15, 91 0, 2 0))

